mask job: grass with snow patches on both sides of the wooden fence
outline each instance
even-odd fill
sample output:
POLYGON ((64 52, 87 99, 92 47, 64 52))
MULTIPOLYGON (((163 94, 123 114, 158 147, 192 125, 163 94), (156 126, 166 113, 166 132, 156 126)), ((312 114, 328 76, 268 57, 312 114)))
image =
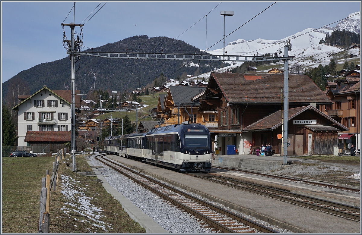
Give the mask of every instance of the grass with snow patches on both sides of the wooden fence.
MULTIPOLYGON (((51 174, 54 160, 54 157, 3 158, 2 232, 38 232, 41 180, 46 170, 51 174)), ((105 191, 95 176, 81 176, 68 170, 65 162, 71 160, 61 161, 56 190, 50 192, 49 232, 146 232, 105 191), (60 187, 61 184, 68 186, 60 187), (69 197, 69 192, 75 193, 69 197), (84 209, 85 205, 92 213, 97 212, 99 218, 92 217, 92 213, 84 209)), ((76 155, 76 164, 79 171, 91 170, 81 155, 76 155)))

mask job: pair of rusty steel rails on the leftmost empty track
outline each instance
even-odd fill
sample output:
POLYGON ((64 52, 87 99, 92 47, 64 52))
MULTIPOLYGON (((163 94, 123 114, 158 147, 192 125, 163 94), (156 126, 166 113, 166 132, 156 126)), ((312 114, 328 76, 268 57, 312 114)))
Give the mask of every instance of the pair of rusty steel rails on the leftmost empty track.
MULTIPOLYGON (((105 155, 107 155, 107 154, 105 154, 105 155)), ((212 204, 210 204, 209 202, 206 202, 206 201, 203 201, 203 200, 201 200, 201 199, 199 199, 199 198, 193 197, 193 196, 189 195, 188 193, 178 191, 178 190, 175 189, 175 188, 172 188, 172 187, 170 187, 170 186, 168 186, 168 185, 165 185, 165 184, 163 184, 163 183, 161 183, 161 182, 159 182, 159 181, 157 181, 157 180, 154 180, 154 179, 152 179, 152 178, 149 178, 148 176, 142 175, 142 174, 140 174, 139 172, 136 172, 136 171, 131 170, 131 169, 129 169, 129 168, 126 168, 126 167, 124 167, 124 166, 122 166, 122 165, 119 165, 118 163, 115 163, 115 162, 113 162, 113 161, 110 161, 110 160, 108 160, 108 159, 105 159, 105 158, 104 158, 105 155, 101 156, 101 158, 104 159, 105 161, 111 162, 111 163, 114 164, 114 165, 117 165, 117 166, 119 166, 119 167, 125 168, 126 170, 131 171, 132 173, 134 173, 134 174, 136 174, 136 175, 142 176, 143 178, 146 178, 147 180, 150 180, 152 183, 155 183, 155 184, 157 184, 157 185, 160 185, 161 187, 167 188, 167 189, 169 189, 169 190, 171 190, 171 191, 173 191, 173 192, 176 192, 176 193, 178 193, 178 194, 180 194, 180 195, 182 195, 182 196, 184 196, 184 197, 186 197, 186 198, 189 198, 189 199, 191 199, 191 200, 193 200, 193 201, 195 201, 195 202, 198 202, 200 205, 206 206, 206 207, 208 207, 208 208, 210 208, 210 209, 212 209, 212 210, 215 210, 216 212, 219 212, 219 213, 222 213, 222 214, 224 214, 224 215, 227 215, 228 217, 230 217, 230 218, 232 218, 232 219, 236 219, 237 221, 239 221, 239 222, 241 222, 241 223, 244 223, 245 225, 250 226, 250 227, 252 227, 252 228, 256 228, 256 229, 259 230, 259 231, 278 233, 277 231, 275 231, 275 230, 273 230, 273 229, 271 229, 271 228, 268 228, 268 227, 266 227, 266 226, 264 226, 264 225, 260 225, 260 224, 254 222, 254 221, 252 221, 252 220, 250 220, 250 219, 241 217, 240 215, 237 215, 237 214, 235 214, 235 213, 229 212, 229 211, 227 211, 227 210, 225 210, 225 209, 223 209, 223 208, 220 208, 220 207, 218 207, 218 206, 212 205, 212 204)), ((100 155, 99 155, 99 156, 100 156, 100 155)), ((194 216, 196 216, 196 217, 201 218, 203 221, 207 222, 208 224, 210 224, 211 226, 217 228, 218 230, 220 230, 220 231, 222 231, 222 232, 235 232, 235 231, 232 230, 231 228, 228 228, 227 226, 224 226, 224 225, 222 225, 221 223, 216 222, 216 221, 213 220, 212 218, 207 217, 206 215, 197 212, 196 210, 194 210, 194 209, 190 208, 189 206, 186 206, 186 205, 178 202, 177 200, 174 200, 174 199, 171 198, 171 197, 168 197, 167 195, 165 195, 164 193, 158 191, 157 189, 154 189, 154 188, 150 187, 149 185, 147 185, 147 184, 139 181, 138 179, 133 178, 132 176, 130 176, 130 175, 126 174, 125 172, 119 170, 118 168, 116 168, 116 167, 108 164, 107 162, 102 161, 101 159, 98 159, 98 156, 96 156, 96 159, 97 159, 98 161, 104 163, 105 165, 113 168, 114 170, 120 172, 121 174, 127 176, 128 178, 136 181, 138 184, 140 184, 140 185, 142 185, 142 186, 150 189, 152 192, 156 193, 157 195, 160 195, 161 197, 165 198, 166 200, 170 201, 171 203, 173 203, 173 204, 179 206, 180 208, 186 210, 188 213, 190 213, 190 214, 192 214, 192 215, 194 215, 194 216)), ((233 223, 233 222, 230 222, 230 223, 233 223)))

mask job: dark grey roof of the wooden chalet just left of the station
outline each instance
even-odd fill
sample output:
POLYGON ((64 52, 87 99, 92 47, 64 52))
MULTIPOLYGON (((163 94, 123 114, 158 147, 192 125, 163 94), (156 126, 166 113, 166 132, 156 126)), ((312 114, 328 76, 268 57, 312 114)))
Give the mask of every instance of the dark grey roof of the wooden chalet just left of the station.
POLYGON ((173 103, 176 106, 178 102, 180 102, 180 104, 190 103, 192 97, 202 93, 205 89, 206 87, 198 86, 170 86, 169 92, 171 93, 173 103))

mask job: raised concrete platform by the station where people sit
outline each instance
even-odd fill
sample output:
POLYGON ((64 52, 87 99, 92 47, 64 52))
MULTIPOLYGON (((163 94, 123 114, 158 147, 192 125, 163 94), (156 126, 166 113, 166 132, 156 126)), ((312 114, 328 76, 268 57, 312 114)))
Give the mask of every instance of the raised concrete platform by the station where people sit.
MULTIPOLYGON (((293 158, 293 161, 300 160, 293 158)), ((255 171, 273 171, 286 167, 283 165, 283 156, 257 156, 257 155, 215 155, 214 165, 231 166, 255 171)))

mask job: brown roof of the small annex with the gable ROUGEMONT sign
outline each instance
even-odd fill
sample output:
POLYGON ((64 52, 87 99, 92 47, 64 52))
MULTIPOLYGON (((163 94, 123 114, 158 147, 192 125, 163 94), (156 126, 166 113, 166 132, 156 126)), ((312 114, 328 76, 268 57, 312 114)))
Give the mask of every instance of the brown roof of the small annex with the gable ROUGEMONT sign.
MULTIPOLYGON (((337 127, 339 127, 338 130, 342 131, 348 131, 348 128, 346 128, 344 125, 338 123, 336 120, 330 118, 329 116, 325 115, 323 112, 317 110, 316 108, 312 106, 302 106, 298 108, 290 108, 288 110, 288 120, 292 120, 296 116, 302 114, 304 111, 307 110, 313 110, 317 114, 323 116, 325 119, 328 119, 331 121, 331 123, 336 124, 337 127)), ((269 114, 265 116, 262 119, 259 119, 258 121, 248 125, 243 129, 243 132, 248 131, 272 131, 282 125, 282 110, 278 110, 272 114, 269 114)))

